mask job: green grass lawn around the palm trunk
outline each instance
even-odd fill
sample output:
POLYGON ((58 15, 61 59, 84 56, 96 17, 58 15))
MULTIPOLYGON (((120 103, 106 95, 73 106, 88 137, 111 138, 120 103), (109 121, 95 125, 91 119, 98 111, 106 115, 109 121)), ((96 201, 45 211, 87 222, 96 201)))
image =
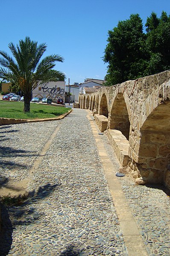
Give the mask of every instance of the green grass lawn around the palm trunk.
POLYGON ((54 118, 67 113, 71 108, 30 103, 30 113, 23 112, 24 102, 0 100, 0 117, 16 119, 54 118))

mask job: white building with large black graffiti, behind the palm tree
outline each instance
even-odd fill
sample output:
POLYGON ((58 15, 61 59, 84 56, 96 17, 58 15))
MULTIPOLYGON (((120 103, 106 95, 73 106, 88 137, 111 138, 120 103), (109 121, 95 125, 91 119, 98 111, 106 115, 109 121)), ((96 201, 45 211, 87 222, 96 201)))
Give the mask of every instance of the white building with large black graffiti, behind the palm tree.
POLYGON ((57 99, 63 99, 65 102, 65 81, 41 84, 32 91, 33 97, 38 97, 39 99, 51 98, 55 103, 57 99))

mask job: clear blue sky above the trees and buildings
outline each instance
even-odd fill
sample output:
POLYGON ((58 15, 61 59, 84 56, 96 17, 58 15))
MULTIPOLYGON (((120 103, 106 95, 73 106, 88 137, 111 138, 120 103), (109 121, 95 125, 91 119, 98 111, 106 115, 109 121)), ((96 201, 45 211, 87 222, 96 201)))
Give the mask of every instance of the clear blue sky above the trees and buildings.
POLYGON ((60 54, 70 83, 85 78, 104 79, 107 64, 102 57, 108 30, 138 13, 146 23, 151 12, 160 17, 170 14, 170 0, 0 0, 0 50, 10 54, 8 43, 15 45, 29 36, 38 44, 47 43, 44 54, 60 54))

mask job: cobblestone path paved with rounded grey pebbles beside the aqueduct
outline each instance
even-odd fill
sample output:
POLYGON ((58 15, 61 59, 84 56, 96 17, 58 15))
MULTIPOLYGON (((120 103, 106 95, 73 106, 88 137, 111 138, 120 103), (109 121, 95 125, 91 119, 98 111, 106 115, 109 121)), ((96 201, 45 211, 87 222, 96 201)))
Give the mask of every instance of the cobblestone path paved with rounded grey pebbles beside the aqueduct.
MULTIPOLYGON (((0 256, 128 255, 86 114, 74 109, 59 121, 0 126, 1 180, 27 181, 32 191, 23 205, 2 208, 0 256)), ((103 143, 116 172, 106 136, 103 143)), ((169 198, 121 182, 148 255, 170 255, 169 198)))

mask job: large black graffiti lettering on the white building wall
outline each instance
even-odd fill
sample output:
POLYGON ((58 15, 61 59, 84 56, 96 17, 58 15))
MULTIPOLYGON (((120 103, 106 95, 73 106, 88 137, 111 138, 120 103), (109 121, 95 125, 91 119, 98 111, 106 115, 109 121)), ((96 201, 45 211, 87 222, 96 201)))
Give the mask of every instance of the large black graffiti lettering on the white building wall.
POLYGON ((60 87, 48 87, 46 84, 41 87, 44 93, 49 93, 49 96, 52 97, 53 99, 63 99, 65 96, 64 89, 61 89, 60 87))

